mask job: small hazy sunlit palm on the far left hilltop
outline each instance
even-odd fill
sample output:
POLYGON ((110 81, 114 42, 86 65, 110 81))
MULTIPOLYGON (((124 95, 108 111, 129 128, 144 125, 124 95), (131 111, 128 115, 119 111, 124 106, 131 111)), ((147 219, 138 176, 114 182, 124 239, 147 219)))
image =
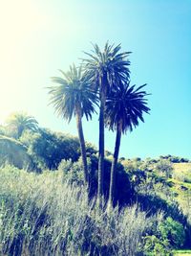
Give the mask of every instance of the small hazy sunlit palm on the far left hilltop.
POLYGON ((7 119, 7 128, 13 137, 19 139, 24 130, 30 129, 36 131, 38 129, 38 122, 34 117, 25 112, 14 112, 7 119))

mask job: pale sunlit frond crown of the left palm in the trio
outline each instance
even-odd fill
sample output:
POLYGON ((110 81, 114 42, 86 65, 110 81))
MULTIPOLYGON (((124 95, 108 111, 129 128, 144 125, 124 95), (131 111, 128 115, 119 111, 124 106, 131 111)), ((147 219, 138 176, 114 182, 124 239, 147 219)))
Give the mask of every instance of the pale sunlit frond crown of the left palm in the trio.
POLYGON ((76 114, 76 105, 81 106, 82 115, 92 118, 98 99, 92 88, 92 76, 83 71, 82 67, 73 64, 67 73, 61 71, 63 78, 53 77, 52 81, 58 83, 48 87, 50 105, 53 105, 58 116, 71 121, 76 114))

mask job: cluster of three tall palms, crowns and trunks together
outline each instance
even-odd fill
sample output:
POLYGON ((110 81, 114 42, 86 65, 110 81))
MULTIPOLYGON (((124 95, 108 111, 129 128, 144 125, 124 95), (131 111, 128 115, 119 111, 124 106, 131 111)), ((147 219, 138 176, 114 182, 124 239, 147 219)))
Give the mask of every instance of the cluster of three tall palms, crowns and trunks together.
POLYGON ((98 155, 98 186, 97 202, 102 207, 103 202, 103 174, 104 174, 104 128, 117 131, 116 147, 114 151, 109 205, 115 197, 115 178, 117 158, 120 147, 121 134, 138 126, 138 120, 144 122, 143 112, 148 113, 148 94, 130 85, 130 52, 121 53, 120 45, 105 44, 103 51, 95 44, 92 53, 85 53, 80 67, 74 65, 68 72, 60 72, 63 78, 53 77, 56 84, 49 87, 50 104, 54 106, 58 115, 71 121, 76 118, 85 184, 89 183, 86 147, 82 128, 82 117, 92 118, 99 107, 99 155, 98 155))

